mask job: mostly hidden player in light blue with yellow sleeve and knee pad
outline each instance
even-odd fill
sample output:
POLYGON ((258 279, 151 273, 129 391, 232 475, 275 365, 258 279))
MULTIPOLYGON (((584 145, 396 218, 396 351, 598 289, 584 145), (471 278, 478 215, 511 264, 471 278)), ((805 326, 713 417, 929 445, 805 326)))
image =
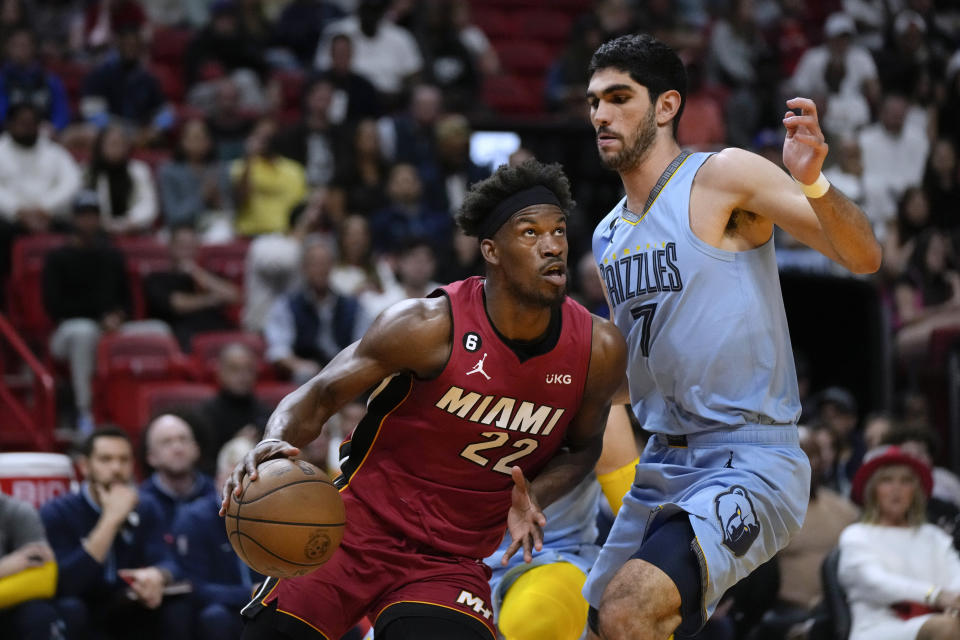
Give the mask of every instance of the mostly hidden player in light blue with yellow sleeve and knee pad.
POLYGON ((581 591, 600 551, 597 514, 606 498, 616 515, 633 483, 637 444, 624 405, 610 408, 596 467, 569 493, 544 509, 543 548, 525 562, 505 557, 510 539, 484 562, 493 571, 491 601, 505 640, 577 640, 584 636, 587 601, 581 591))

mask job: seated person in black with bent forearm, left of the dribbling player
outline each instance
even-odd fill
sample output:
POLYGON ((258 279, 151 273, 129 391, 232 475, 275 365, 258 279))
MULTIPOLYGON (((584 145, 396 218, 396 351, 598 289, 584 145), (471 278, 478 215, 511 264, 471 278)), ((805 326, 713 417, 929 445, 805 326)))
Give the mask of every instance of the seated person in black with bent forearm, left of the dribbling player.
POLYGON ((147 315, 166 322, 185 352, 204 331, 233 328, 227 307, 240 301, 240 289, 197 264, 199 239, 189 225, 170 234, 170 271, 154 271, 143 281, 147 315))

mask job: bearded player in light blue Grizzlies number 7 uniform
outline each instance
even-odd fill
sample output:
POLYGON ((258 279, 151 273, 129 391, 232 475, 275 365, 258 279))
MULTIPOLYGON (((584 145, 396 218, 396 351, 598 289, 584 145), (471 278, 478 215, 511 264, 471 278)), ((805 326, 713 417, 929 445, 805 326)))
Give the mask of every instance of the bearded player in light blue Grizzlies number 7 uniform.
POLYGON ((741 149, 681 151, 686 75, 657 40, 607 42, 590 73, 600 158, 626 191, 593 252, 627 337, 629 402, 655 435, 584 593, 603 640, 683 638, 806 511, 773 226, 855 273, 876 271, 880 247, 820 172, 827 145, 811 100, 786 103, 787 174, 741 149))

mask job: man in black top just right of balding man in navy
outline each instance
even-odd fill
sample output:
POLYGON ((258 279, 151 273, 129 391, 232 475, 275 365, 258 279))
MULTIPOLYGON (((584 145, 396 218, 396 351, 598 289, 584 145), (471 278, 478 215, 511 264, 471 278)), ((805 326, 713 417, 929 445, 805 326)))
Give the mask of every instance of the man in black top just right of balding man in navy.
MULTIPOLYGON (((243 432, 259 439, 270 411, 254 395, 259 358, 240 342, 225 345, 217 357, 217 395, 199 407, 210 429, 211 451, 243 432)), ((218 485, 219 486, 219 485, 218 485)))

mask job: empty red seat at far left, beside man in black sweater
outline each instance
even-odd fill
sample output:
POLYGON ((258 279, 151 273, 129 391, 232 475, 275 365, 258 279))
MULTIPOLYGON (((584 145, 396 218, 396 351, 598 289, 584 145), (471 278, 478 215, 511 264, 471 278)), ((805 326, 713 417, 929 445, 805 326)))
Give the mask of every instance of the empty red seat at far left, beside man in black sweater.
POLYGON ((14 243, 7 287, 10 321, 29 341, 45 342, 53 322, 43 305, 43 264, 47 254, 63 245, 66 236, 23 236, 14 243))

